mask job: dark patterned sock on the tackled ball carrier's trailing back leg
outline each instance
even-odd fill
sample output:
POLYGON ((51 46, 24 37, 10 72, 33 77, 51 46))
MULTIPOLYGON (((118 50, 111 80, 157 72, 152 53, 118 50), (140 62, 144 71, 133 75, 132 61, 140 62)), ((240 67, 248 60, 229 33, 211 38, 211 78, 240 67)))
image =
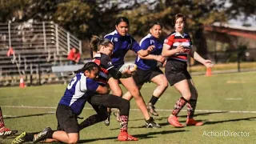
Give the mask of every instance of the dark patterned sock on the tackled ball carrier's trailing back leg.
POLYGON ((88 126, 92 126, 95 123, 102 122, 102 121, 106 120, 106 118, 107 118, 107 115, 105 115, 105 114, 104 115, 102 115, 102 114, 91 115, 89 118, 86 118, 86 120, 82 121, 79 124, 79 130, 82 130, 88 126))

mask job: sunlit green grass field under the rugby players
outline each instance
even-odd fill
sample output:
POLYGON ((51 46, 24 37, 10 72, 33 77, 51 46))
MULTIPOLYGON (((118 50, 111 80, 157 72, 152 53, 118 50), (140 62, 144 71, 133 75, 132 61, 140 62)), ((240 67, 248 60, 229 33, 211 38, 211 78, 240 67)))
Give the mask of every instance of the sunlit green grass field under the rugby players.
MULTIPOLYGON (((138 142, 122 143, 255 143, 256 142, 256 73, 219 74, 211 77, 194 76, 198 89, 196 119, 204 126, 174 128, 166 122, 180 94, 174 87, 169 87, 156 104, 159 112, 154 117, 162 125, 161 129, 146 129, 142 113, 131 101, 129 133, 139 138, 138 142), (220 136, 219 134, 228 134, 220 136), (239 133, 239 132, 243 132, 239 133), (239 133, 235 135, 234 133, 239 133)), ((154 84, 146 84, 142 95, 146 102, 151 97, 154 84)), ((37 132, 50 126, 57 126, 54 115, 55 107, 66 86, 34 86, 20 89, 6 87, 0 89, 0 106, 5 115, 5 123, 11 129, 37 132)), ((90 104, 82 112, 87 118, 94 114, 90 104)), ((186 107, 183 108, 180 121, 186 122, 186 107)), ((117 141, 119 124, 114 117, 110 126, 102 122, 82 130, 81 143, 120 143, 117 141)), ((0 143, 10 143, 13 138, 0 139, 0 143)))

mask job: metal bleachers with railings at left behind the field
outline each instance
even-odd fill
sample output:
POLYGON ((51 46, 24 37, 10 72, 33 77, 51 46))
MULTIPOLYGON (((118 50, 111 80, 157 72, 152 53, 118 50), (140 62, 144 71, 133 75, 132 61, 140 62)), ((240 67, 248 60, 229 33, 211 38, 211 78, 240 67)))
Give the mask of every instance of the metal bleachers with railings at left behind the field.
POLYGON ((72 47, 82 53, 82 42, 54 22, 0 23, 0 86, 15 85, 20 76, 52 74, 51 66, 66 65, 72 47), (14 54, 7 56, 10 48, 14 54))

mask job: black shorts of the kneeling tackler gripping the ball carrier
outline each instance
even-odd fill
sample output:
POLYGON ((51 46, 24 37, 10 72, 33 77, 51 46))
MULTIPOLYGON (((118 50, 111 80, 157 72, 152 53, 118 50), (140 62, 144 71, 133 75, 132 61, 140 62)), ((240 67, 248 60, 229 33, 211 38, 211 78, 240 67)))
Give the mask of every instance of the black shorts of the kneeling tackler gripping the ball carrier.
POLYGON ((78 116, 70 109, 70 106, 58 105, 56 110, 58 120, 57 130, 64 130, 67 134, 79 133, 78 116))

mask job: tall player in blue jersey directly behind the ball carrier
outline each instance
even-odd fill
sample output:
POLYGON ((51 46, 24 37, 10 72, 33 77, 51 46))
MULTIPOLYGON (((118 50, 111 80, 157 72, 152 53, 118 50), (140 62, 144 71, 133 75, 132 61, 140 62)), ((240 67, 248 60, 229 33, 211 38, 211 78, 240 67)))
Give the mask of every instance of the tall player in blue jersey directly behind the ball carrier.
MULTIPOLYGON (((112 33, 106 34, 105 38, 109 39, 111 42, 114 43, 114 51, 111 55, 112 64, 116 70, 119 70, 120 67, 124 64, 124 57, 128 50, 133 50, 136 54, 141 56, 146 56, 150 54, 150 52, 154 49, 154 46, 148 46, 146 50, 142 50, 141 47, 138 45, 138 42, 134 40, 128 34, 129 30, 129 20, 125 17, 117 18, 115 22, 115 29, 112 33)), ((120 78, 120 79, 109 79, 110 89, 114 95, 119 97, 122 96, 122 89, 119 86, 119 82, 122 83, 123 86, 130 92, 130 94, 134 97, 134 100, 138 106, 138 108, 142 111, 144 118, 146 120, 146 127, 154 127, 159 128, 161 127, 157 123, 154 122, 154 119, 150 117, 149 112, 146 109, 146 104, 142 95, 140 94, 138 87, 134 82, 134 78, 120 78)), ((110 118, 106 119, 105 121, 106 126, 110 124, 110 118)))

